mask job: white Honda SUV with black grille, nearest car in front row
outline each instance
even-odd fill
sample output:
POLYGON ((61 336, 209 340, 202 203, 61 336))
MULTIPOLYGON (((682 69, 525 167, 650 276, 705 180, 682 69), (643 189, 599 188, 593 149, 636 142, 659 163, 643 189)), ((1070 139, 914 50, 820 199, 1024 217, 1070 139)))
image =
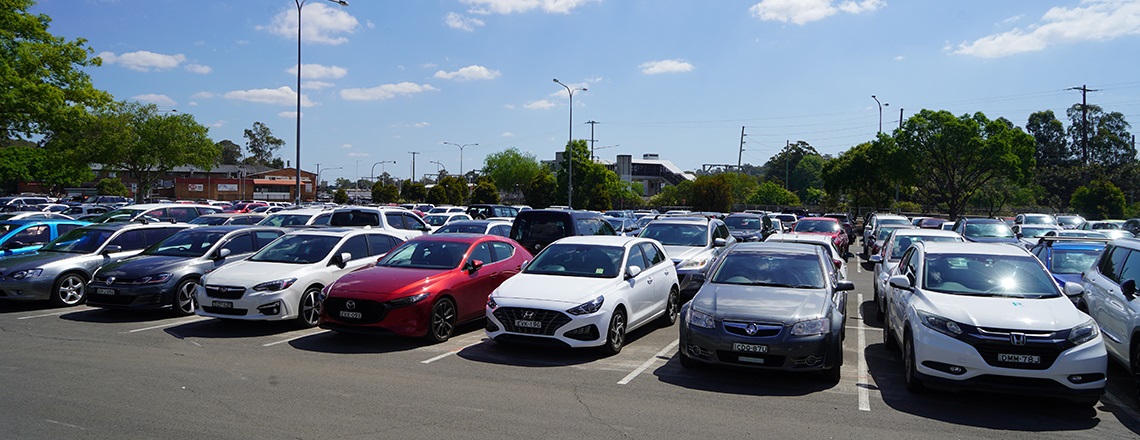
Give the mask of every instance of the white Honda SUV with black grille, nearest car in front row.
POLYGON ((1097 323, 1073 307, 1021 246, 917 243, 890 277, 883 344, 903 350, 906 389, 983 390, 1096 405, 1108 353, 1097 323))

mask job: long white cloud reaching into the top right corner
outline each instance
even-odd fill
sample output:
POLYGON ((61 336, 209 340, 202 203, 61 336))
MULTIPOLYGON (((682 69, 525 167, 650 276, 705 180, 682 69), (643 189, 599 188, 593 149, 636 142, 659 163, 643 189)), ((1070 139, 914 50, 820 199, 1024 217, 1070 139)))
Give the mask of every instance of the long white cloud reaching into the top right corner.
POLYGON ((1083 0, 1081 7, 1054 7, 1035 24, 958 44, 954 54, 979 58, 1044 50, 1050 46, 1105 41, 1140 34, 1140 2, 1083 0))

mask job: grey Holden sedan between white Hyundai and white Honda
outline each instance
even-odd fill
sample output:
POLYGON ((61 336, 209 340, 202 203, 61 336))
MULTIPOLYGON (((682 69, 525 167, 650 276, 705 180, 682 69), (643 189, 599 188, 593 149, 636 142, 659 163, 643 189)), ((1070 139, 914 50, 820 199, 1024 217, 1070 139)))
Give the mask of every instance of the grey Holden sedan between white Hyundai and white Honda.
POLYGON ((838 382, 847 291, 819 246, 740 243, 681 309, 682 367, 821 372, 838 382))

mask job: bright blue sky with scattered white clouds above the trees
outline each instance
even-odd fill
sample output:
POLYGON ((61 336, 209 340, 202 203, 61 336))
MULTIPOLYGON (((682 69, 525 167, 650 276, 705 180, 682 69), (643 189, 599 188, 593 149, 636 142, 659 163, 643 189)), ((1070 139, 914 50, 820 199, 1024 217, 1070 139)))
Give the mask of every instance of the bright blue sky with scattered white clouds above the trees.
MULTIPOLYGON (((51 32, 103 56, 96 87, 193 114, 244 145, 261 121, 293 162, 292 0, 40 0, 51 32)), ((597 155, 685 170, 763 164, 785 141, 838 154, 898 112, 1024 125, 1089 103, 1140 122, 1140 1, 308 0, 302 157, 321 178, 477 169, 508 147, 552 158, 596 121, 597 155)), ((1133 131, 1137 131, 1135 129, 1133 131)))

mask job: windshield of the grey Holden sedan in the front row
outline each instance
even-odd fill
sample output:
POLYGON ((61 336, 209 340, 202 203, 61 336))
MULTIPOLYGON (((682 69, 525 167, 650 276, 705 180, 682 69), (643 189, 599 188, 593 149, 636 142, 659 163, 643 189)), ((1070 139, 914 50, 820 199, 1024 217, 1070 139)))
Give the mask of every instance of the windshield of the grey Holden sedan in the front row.
POLYGON ((823 288, 820 258, 806 253, 731 252, 712 283, 749 286, 823 288))

